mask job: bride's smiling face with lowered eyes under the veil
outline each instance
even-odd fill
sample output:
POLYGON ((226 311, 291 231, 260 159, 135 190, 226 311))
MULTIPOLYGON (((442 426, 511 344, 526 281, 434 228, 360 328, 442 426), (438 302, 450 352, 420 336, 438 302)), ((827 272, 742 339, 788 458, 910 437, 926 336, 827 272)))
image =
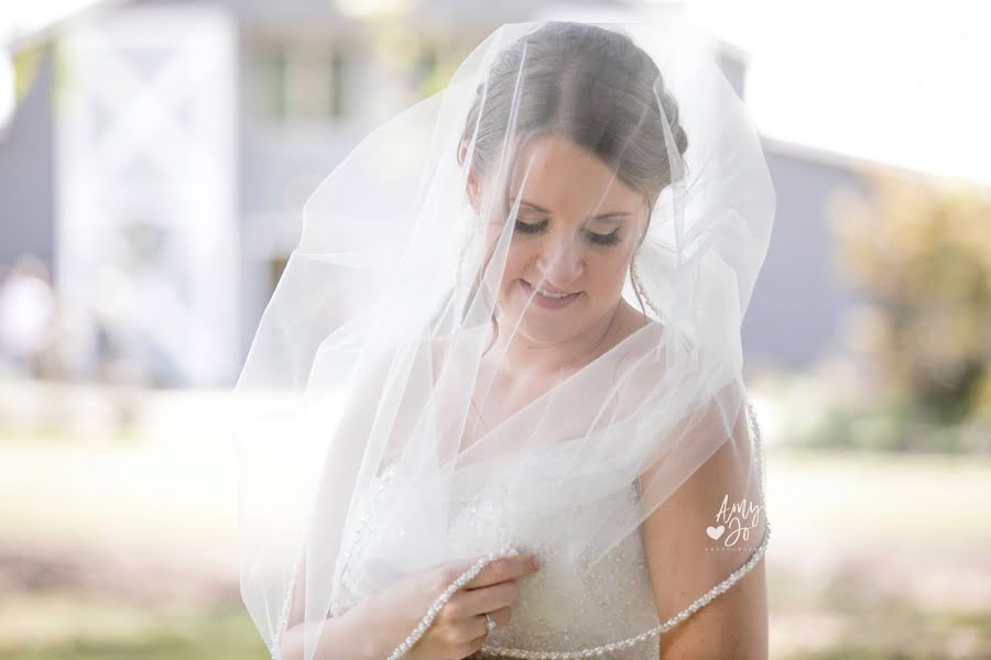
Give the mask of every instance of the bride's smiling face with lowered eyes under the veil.
MULTIPOLYGON (((601 332, 646 224, 643 196, 562 135, 530 141, 509 193, 510 205, 521 199, 499 292, 503 327, 522 315, 518 332, 535 343, 601 332)), ((490 240, 501 230, 493 223, 490 240)))

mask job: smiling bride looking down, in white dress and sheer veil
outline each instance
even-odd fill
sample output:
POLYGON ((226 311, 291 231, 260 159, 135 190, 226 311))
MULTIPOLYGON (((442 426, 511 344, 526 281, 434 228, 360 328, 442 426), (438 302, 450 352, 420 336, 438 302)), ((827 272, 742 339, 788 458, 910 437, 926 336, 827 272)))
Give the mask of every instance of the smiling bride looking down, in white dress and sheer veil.
POLYGON ((507 24, 307 201, 238 383, 273 658, 758 658, 775 198, 679 15, 507 24))

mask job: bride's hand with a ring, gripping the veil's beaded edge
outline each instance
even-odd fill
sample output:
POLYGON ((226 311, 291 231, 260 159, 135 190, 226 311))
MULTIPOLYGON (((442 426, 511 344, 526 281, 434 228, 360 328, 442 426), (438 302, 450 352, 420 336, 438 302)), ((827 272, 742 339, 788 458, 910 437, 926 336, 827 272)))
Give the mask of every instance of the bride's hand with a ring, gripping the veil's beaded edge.
MULTIPOLYGON (((486 613, 497 626, 509 623, 520 591, 516 581, 537 571, 535 559, 531 553, 520 553, 487 564, 445 603, 406 657, 411 660, 460 660, 480 649, 487 634, 486 613)), ((444 590, 476 561, 478 558, 440 564, 388 590, 390 606, 409 613, 405 635, 420 624, 444 590)))

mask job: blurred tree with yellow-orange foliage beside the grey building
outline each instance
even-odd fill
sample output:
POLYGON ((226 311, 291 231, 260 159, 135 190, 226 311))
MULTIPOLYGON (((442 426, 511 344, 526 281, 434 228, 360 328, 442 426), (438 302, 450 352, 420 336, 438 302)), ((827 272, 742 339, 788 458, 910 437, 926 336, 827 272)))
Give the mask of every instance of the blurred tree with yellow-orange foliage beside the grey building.
POLYGON ((865 172, 830 201, 839 270, 871 298, 863 336, 886 384, 925 417, 991 421, 991 197, 865 172))

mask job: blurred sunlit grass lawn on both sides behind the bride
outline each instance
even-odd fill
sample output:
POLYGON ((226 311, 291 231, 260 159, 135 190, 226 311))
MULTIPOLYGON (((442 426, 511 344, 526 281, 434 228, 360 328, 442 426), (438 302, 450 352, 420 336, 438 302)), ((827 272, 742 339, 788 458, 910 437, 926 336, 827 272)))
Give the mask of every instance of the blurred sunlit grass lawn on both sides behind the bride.
MULTIPOLYGON (((268 658, 209 441, 0 441, 0 660, 268 658)), ((772 658, 991 658, 991 461, 773 447, 767 495, 772 658)))

